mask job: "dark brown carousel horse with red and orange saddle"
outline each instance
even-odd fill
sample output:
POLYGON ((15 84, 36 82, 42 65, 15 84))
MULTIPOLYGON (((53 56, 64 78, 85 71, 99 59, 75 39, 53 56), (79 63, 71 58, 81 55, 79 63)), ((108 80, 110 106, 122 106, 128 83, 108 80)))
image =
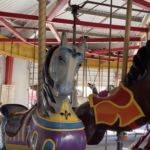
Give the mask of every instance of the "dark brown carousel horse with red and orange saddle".
POLYGON ((110 96, 90 95, 76 109, 85 126, 87 144, 96 145, 106 130, 132 131, 150 121, 150 41, 133 58, 133 65, 110 96))

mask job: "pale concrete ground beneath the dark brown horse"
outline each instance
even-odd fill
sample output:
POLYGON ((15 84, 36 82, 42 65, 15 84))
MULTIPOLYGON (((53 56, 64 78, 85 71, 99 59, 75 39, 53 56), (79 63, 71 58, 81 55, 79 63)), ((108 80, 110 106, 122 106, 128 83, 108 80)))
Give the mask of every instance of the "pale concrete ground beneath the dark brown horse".
MULTIPOLYGON (((137 135, 136 137, 134 137, 134 135, 128 135, 127 140, 124 141, 124 143, 123 143, 123 147, 128 148, 139 137, 140 137, 140 135, 137 135)), ((117 150, 117 142, 115 141, 116 139, 117 139, 116 136, 108 137, 107 150, 117 150)), ((147 143, 147 139, 143 142, 143 144, 140 147, 143 148, 146 145, 146 143, 147 143)), ((87 145, 86 150, 106 150, 105 149, 105 139, 103 139, 103 141, 98 145, 95 145, 95 146, 87 145)))

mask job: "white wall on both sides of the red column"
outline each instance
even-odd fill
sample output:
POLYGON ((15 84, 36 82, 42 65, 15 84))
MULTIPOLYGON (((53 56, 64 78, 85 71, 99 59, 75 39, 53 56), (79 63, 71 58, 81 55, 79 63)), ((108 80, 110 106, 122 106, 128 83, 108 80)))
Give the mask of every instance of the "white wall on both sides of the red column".
MULTIPOLYGON (((6 58, 0 56, 0 101, 2 84, 5 84, 6 58)), ((12 85, 15 85, 14 103, 28 105, 29 61, 14 59, 12 85)))

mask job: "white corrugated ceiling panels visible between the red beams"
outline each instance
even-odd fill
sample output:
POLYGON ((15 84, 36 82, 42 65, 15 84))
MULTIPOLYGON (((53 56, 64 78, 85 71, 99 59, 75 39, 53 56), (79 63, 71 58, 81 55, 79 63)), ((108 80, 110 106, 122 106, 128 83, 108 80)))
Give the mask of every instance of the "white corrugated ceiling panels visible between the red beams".
MULTIPOLYGON (((86 0, 71 0, 71 4, 82 4, 86 0)), ((87 0, 88 1, 88 0, 87 0)), ((51 10, 56 5, 55 0, 47 1, 47 15, 51 12, 51 10)), ((94 0, 94 2, 99 2, 101 4, 110 5, 110 0, 94 0)), ((15 14, 25 14, 25 15, 34 15, 38 16, 38 0, 0 0, 0 14, 2 12, 9 12, 15 14)), ((110 7, 104 5, 96 5, 96 4, 87 4, 84 8, 78 11, 78 20, 83 23, 96 23, 96 25, 109 25, 110 24, 110 7)), ((113 5, 120 6, 120 7, 127 7, 126 2, 123 0, 113 0, 113 5)), ((132 27, 141 27, 143 19, 146 15, 145 12, 141 12, 144 9, 140 8, 136 5, 133 5, 133 9, 138 9, 139 11, 132 11, 132 19, 131 19, 131 26, 132 27)), ((112 9, 112 24, 117 26, 125 26, 126 20, 126 10, 120 8, 113 8, 112 9)), ((1 16, 1 15, 0 15, 1 16)), ((5 18, 5 17, 4 17, 5 18)), ((61 22, 64 20, 73 20, 73 16, 71 13, 71 8, 66 5, 55 15, 55 18, 58 20, 53 22, 54 28, 58 31, 58 36, 61 36, 61 32, 63 30, 67 31, 68 39, 72 38, 73 29, 72 24, 66 24, 66 22, 61 22)), ((21 33, 27 39, 34 39, 35 37, 38 38, 38 22, 32 21, 29 19, 19 19, 19 18, 12 18, 7 17, 5 18, 11 26, 15 27, 15 29, 21 33), (30 29, 29 29, 30 28, 30 29)), ((0 22, 1 23, 1 22, 0 22)), ((2 23, 1 23, 2 24, 2 23)), ((3 24, 2 24, 3 26, 3 24)), ((8 29, 3 28, 1 26, 0 34, 3 36, 7 36, 9 38, 18 38, 14 33, 10 32, 8 29)), ((93 50, 101 50, 101 49, 108 49, 109 48, 109 40, 103 41, 104 38, 109 38, 109 28, 95 28, 95 26, 90 25, 78 25, 76 38, 81 39, 83 36, 86 36, 90 42, 87 42, 87 50, 91 52, 93 50), (95 41, 94 41, 95 39, 95 41)), ((122 48, 124 45, 124 31, 123 30, 112 30, 112 38, 122 38, 121 41, 114 40, 111 43, 111 48, 122 48)), ((139 37, 140 33, 134 30, 130 32, 131 37, 139 37)), ((50 32, 49 27, 47 26, 46 32, 47 39, 56 39, 55 35, 50 32)), ((120 40, 120 39, 119 39, 120 40)), ((53 40, 52 40, 53 41, 53 40)), ((50 42, 47 45, 56 45, 58 42, 50 42)), ((139 45, 138 40, 131 40, 130 46, 137 46, 139 45)), ((135 49, 137 50, 137 49, 135 49)), ((136 51, 131 50, 129 55, 135 54, 136 51)), ((91 55, 94 55, 91 53, 91 55)))

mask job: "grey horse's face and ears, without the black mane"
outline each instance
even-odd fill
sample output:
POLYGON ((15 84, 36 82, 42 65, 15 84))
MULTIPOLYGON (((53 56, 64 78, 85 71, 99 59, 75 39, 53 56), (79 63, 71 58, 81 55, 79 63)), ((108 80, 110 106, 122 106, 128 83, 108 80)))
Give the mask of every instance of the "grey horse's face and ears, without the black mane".
POLYGON ((56 96, 68 96, 73 89, 74 76, 84 59, 85 40, 79 47, 68 43, 65 32, 62 33, 61 45, 55 50, 49 64, 49 75, 54 81, 56 96))

